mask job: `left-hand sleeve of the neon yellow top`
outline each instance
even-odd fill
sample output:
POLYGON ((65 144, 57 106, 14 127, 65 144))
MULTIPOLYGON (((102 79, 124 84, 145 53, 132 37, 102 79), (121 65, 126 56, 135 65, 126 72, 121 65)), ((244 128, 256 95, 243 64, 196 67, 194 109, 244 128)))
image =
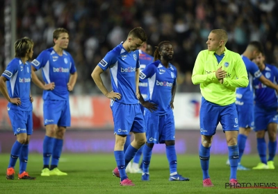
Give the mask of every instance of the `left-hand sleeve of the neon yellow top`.
POLYGON ((191 77, 194 85, 198 85, 203 82, 211 82, 212 80, 217 79, 215 72, 204 74, 204 55, 206 55, 206 53, 203 51, 199 52, 197 55, 191 77))

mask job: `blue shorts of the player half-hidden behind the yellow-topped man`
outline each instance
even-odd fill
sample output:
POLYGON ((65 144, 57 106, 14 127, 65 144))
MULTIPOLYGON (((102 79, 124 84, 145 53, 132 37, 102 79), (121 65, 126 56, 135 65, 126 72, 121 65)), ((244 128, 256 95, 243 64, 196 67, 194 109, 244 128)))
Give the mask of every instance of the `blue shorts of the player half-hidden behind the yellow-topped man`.
POLYGON ((238 126, 254 127, 254 105, 236 105, 238 111, 238 126))

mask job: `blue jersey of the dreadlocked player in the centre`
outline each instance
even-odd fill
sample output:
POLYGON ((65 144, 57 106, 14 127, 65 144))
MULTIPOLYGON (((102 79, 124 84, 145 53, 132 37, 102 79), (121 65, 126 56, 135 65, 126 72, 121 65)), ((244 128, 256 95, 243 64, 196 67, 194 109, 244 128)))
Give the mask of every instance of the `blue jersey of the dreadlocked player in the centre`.
POLYGON ((177 69, 172 64, 168 68, 156 60, 140 72, 140 80, 149 80, 149 102, 158 105, 154 114, 163 115, 170 109, 172 87, 176 85, 177 69))

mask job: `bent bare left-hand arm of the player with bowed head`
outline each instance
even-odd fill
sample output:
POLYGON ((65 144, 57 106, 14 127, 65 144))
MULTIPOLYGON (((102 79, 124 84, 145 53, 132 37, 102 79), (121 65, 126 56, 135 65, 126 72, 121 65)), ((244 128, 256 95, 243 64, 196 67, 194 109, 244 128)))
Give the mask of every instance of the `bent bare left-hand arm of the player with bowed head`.
POLYGON ((104 94, 107 98, 111 98, 113 100, 115 100, 116 98, 118 100, 121 99, 121 94, 111 91, 108 92, 108 90, 106 89, 106 87, 104 86, 104 82, 101 79, 101 73, 104 73, 104 70, 102 70, 99 66, 95 67, 94 71, 92 71, 92 79, 95 81, 95 84, 97 85, 97 87, 99 88, 99 90, 102 92, 102 94, 104 94))

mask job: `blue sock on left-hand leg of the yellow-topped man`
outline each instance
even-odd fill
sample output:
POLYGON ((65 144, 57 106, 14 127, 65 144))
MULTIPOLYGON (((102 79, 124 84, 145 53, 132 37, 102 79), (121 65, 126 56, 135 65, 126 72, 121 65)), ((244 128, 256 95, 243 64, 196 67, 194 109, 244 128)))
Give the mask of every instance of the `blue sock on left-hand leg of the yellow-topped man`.
POLYGON ((201 162, 201 168, 203 170, 203 179, 208 179, 208 166, 209 166, 209 157, 211 155, 211 147, 206 148, 202 145, 199 148, 199 159, 201 162))

